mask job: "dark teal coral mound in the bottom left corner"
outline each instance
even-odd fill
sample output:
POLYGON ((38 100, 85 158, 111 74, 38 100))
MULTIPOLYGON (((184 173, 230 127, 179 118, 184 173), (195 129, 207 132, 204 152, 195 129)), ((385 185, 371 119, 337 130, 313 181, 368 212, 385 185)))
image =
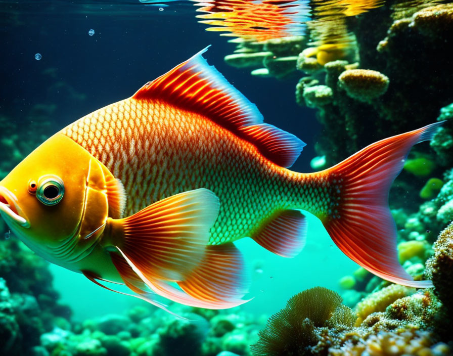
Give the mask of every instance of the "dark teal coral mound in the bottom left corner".
POLYGON ((57 302, 47 266, 15 238, 0 241, 1 354, 34 354, 41 334, 70 328, 71 310, 57 302))

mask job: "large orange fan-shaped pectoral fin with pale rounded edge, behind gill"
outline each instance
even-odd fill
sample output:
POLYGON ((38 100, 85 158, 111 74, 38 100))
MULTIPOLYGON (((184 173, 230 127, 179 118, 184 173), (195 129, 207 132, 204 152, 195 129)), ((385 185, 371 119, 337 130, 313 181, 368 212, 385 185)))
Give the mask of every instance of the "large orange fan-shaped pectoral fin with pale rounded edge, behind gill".
POLYGON ((148 278, 182 281, 202 260, 218 198, 201 188, 107 220, 106 246, 119 246, 148 278))

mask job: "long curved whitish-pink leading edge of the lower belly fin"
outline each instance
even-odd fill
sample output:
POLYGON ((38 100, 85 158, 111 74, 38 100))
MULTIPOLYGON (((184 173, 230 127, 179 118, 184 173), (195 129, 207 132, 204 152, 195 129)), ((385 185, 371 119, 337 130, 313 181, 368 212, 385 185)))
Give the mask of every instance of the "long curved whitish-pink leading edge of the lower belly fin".
POLYGON ((232 308, 238 305, 241 305, 248 300, 234 300, 234 301, 208 301, 197 299, 183 290, 177 289, 170 285, 168 281, 163 281, 154 278, 147 278, 142 271, 134 265, 134 263, 127 258, 125 253, 121 251, 119 247, 117 247, 118 251, 123 255, 124 259, 129 263, 132 270, 137 273, 137 275, 146 283, 146 285, 156 294, 159 294, 162 297, 175 301, 177 303, 195 306, 199 308, 209 308, 209 309, 227 309, 232 308))

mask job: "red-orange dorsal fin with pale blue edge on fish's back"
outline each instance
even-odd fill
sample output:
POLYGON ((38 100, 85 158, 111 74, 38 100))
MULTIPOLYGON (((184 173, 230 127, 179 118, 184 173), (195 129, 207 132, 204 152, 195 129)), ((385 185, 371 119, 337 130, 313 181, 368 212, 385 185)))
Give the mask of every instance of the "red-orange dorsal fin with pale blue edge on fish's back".
POLYGON ((291 133, 263 124, 256 106, 202 57, 206 50, 146 83, 132 98, 163 100, 197 112, 254 144, 267 159, 291 166, 305 144, 291 133))

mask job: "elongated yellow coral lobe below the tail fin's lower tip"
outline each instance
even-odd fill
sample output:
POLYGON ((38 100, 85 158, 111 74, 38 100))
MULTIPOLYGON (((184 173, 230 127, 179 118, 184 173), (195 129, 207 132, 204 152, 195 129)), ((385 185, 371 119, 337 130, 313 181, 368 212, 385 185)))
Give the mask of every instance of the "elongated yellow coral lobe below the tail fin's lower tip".
POLYGON ((355 306, 354 311, 358 316, 355 325, 359 326, 370 314, 384 311, 395 300, 411 295, 415 291, 415 288, 392 284, 368 295, 355 306))

